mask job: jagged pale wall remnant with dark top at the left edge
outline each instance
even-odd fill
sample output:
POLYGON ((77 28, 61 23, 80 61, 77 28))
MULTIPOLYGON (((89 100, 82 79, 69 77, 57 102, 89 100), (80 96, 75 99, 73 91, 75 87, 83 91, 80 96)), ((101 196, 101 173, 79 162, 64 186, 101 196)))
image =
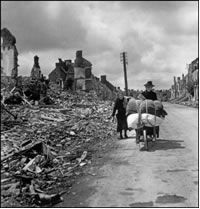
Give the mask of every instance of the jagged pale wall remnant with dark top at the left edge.
POLYGON ((16 38, 7 28, 1 30, 1 75, 18 76, 18 51, 16 38))

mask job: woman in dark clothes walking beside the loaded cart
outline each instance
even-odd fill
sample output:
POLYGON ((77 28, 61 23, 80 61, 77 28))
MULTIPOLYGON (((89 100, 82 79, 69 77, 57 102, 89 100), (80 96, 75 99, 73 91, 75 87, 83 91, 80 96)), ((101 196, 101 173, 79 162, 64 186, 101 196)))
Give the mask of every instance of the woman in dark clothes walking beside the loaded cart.
POLYGON ((114 118, 115 113, 117 112, 117 132, 120 133, 120 139, 123 139, 122 131, 124 130, 124 137, 128 138, 127 136, 127 120, 126 120, 126 99, 122 92, 118 94, 118 98, 115 101, 114 109, 112 117, 114 118))

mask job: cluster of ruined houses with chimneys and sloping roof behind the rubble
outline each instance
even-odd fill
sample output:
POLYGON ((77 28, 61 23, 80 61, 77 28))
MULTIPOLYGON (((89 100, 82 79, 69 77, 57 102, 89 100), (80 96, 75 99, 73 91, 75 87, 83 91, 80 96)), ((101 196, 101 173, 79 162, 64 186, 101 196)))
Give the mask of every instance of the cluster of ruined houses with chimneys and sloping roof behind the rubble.
POLYGON ((58 60, 55 69, 49 74, 49 80, 60 89, 93 91, 101 99, 116 98, 116 87, 107 81, 105 75, 100 80, 92 74, 92 64, 83 58, 82 51, 76 52, 74 63, 71 60, 58 60))

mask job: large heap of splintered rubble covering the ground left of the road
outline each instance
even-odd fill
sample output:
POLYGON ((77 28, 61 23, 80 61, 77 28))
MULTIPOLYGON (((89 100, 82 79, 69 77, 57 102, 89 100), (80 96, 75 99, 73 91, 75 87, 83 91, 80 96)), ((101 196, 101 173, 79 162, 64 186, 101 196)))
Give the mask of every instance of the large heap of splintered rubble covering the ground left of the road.
POLYGON ((55 191, 77 169, 91 163, 90 146, 111 138, 115 124, 111 101, 95 92, 54 94, 54 106, 14 106, 2 111, 1 201, 22 205, 54 204, 65 191, 55 191))

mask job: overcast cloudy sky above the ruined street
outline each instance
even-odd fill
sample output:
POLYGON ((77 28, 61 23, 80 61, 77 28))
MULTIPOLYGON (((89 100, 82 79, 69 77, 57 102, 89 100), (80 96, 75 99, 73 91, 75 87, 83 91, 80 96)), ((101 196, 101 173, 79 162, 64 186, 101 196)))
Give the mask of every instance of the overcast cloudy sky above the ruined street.
POLYGON ((76 50, 92 62, 94 75, 107 75, 124 88, 120 52, 128 53, 129 88, 152 80, 169 89, 198 56, 197 1, 1 2, 1 27, 16 37, 19 74, 30 75, 33 57, 48 75, 58 58, 76 50))

